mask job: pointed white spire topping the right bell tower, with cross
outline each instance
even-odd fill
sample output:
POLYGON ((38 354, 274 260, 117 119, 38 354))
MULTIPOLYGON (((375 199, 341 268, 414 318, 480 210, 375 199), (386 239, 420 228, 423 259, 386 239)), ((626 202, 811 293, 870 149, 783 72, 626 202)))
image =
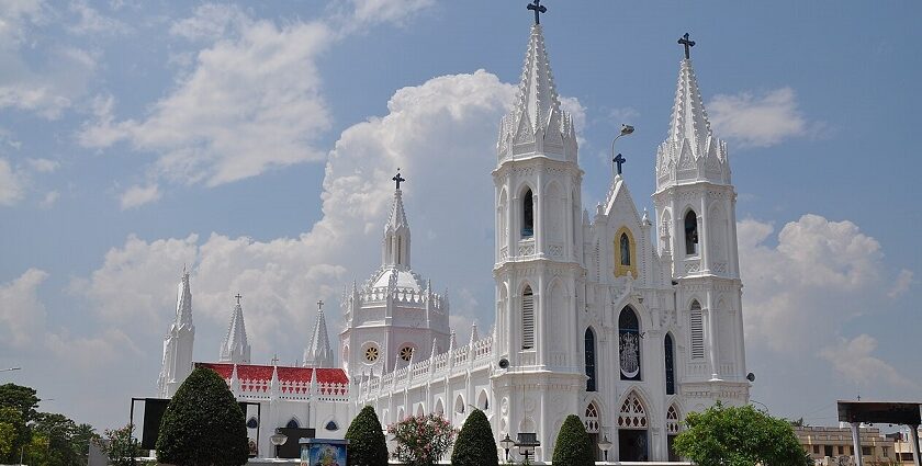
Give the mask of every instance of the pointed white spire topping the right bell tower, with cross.
POLYGON ((730 184, 727 144, 711 132, 688 53, 695 42, 687 36, 679 39, 686 55, 679 67, 670 134, 656 151, 656 191, 696 181, 730 184))

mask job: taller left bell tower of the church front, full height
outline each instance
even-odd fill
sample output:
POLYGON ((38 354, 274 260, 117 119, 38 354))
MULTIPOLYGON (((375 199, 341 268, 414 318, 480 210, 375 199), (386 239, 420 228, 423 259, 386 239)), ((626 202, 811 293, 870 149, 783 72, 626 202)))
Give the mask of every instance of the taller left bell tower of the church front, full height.
MULTIPOLYGON (((496 345, 499 436, 538 433, 548 459, 585 385, 578 359, 583 171, 571 115, 561 110, 539 13, 514 110, 499 127, 496 195, 496 345), (506 366, 503 368, 502 366, 506 366)), ((542 453, 543 452, 543 453, 542 453)))

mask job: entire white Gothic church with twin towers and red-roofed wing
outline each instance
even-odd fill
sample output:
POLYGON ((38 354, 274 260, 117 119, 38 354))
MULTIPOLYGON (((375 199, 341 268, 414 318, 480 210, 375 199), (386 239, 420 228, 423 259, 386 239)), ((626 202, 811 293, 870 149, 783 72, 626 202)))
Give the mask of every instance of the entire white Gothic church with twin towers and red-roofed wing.
MULTIPOLYGON (((685 41, 668 136, 656 149, 651 219, 638 212, 620 170, 605 202, 583 208, 573 118, 561 109, 541 25, 531 27, 492 172, 490 332, 474 327, 456 336, 448 298, 411 268, 397 173, 381 266, 363 284, 347 285, 340 300, 339 367, 322 307, 302 367, 249 364, 239 300, 218 362, 204 365, 238 399, 262 404, 263 425, 293 421, 318 437, 341 437, 366 405, 383 424, 435 413, 458 428, 476 407, 497 441, 536 434, 533 459, 550 461, 573 413, 595 442, 614 443, 610 459, 677 459, 671 445, 686 413, 718 400, 745 404, 750 389, 737 193, 727 145, 711 132, 688 58, 694 43, 685 41)), ((183 273, 164 343, 162 397, 188 375, 193 339, 183 273)), ((266 456, 272 432, 260 432, 266 456)))

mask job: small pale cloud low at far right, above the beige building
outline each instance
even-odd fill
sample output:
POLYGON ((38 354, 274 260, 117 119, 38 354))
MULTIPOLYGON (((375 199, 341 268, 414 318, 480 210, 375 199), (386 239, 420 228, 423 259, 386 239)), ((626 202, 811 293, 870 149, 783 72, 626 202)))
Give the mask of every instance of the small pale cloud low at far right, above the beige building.
POLYGON ((832 363, 840 375, 864 386, 886 382, 902 387, 919 387, 902 376, 896 367, 873 356, 872 353, 876 349, 877 340, 867 334, 859 334, 852 340, 839 339, 835 344, 823 348, 820 356, 832 363))

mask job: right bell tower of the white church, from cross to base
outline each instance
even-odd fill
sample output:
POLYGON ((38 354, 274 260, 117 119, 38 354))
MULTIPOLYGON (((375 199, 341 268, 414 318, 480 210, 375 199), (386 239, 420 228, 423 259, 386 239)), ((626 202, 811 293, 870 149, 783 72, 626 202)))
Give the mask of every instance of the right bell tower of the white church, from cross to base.
POLYGON ((692 67, 695 42, 685 34, 678 43, 685 58, 668 137, 656 151, 653 202, 659 251, 677 283, 676 310, 688 334, 683 384, 712 399, 745 402, 737 192, 727 144, 711 132, 692 67))

